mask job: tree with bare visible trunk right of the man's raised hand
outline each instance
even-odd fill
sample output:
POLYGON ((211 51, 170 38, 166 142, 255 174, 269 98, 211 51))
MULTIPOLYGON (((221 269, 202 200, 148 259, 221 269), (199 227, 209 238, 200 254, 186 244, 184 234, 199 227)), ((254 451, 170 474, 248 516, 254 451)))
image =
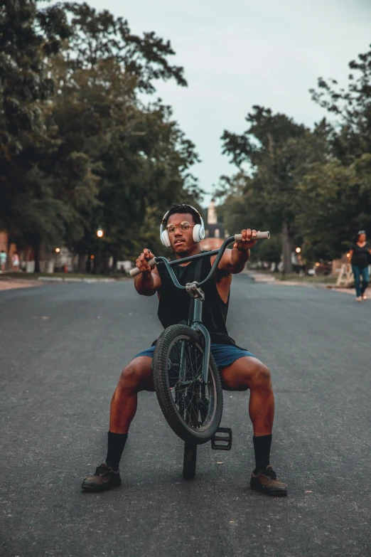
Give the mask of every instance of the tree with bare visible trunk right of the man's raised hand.
POLYGON ((259 207, 262 222, 281 233, 284 272, 291 272, 294 223, 300 211, 296 189, 308 165, 326 157, 326 122, 314 132, 283 114, 254 106, 242 135, 225 131, 223 153, 237 166, 248 163, 250 196, 259 207))

